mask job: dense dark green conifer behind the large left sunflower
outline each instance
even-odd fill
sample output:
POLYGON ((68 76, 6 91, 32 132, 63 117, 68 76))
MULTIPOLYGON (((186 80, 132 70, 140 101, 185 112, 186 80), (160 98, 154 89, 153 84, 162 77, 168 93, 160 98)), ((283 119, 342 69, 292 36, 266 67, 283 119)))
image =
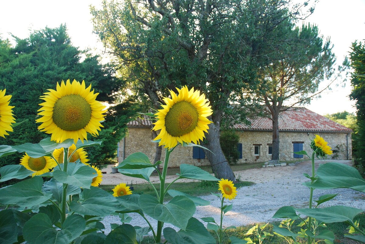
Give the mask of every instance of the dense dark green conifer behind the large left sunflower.
MULTIPOLYGON (((34 31, 26 39, 16 40, 12 47, 9 40, 0 39, 0 87, 12 94, 11 105, 15 106, 14 114, 17 122, 25 121, 22 126, 16 127, 7 139, 0 139, 0 144, 18 145, 23 143, 38 143, 48 137, 39 132, 35 123, 38 105, 42 102, 39 97, 47 89, 55 89, 57 82, 70 79, 85 80, 86 85, 92 83, 97 100, 112 104, 116 99, 123 81, 116 78, 113 69, 99 63, 98 56, 92 56, 72 46, 67 34, 66 26, 45 28, 34 31), (82 54, 85 54, 85 58, 82 54)), ((126 121, 131 114, 124 113, 131 101, 123 106, 110 109, 108 121, 104 123, 105 131, 93 140, 103 140, 100 152, 93 152, 93 163, 114 158, 117 141, 123 135, 126 121), (112 113, 123 108, 118 114, 112 113)), ((16 164, 21 155, 1 159, 0 166, 16 164)))

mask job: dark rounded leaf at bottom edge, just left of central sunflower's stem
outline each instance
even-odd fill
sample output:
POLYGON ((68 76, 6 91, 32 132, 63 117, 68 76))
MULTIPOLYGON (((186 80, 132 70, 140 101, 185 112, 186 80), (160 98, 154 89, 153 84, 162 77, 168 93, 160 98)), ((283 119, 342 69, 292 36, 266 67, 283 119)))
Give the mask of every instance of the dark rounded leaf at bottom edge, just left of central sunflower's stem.
POLYGON ((105 244, 138 244, 136 239, 136 231, 132 225, 124 224, 118 226, 116 229, 112 230, 107 238, 105 239, 105 244))

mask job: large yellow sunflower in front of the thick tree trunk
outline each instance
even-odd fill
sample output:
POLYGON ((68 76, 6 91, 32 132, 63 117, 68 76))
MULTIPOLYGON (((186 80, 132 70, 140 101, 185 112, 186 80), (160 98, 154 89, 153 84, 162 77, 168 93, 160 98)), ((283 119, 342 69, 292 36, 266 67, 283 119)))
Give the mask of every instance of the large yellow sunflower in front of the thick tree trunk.
POLYGON ((154 139, 161 139, 159 146, 173 148, 177 143, 195 144, 205 138, 204 131, 208 132, 208 124, 212 121, 207 117, 212 114, 211 106, 205 95, 194 88, 188 90, 187 86, 176 88, 178 95, 170 91, 171 98, 164 97, 166 105, 155 114, 157 121, 153 130, 161 129, 160 134, 154 139))

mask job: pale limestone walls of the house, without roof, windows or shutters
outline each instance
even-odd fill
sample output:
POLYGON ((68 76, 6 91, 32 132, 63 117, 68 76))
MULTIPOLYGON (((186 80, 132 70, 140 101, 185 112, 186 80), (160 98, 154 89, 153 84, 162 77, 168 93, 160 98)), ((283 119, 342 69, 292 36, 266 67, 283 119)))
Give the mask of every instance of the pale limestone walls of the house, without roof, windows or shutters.
MULTIPOLYGON (((271 159, 268 154, 268 144, 272 143, 272 132, 270 131, 237 131, 239 135, 239 143, 242 143, 242 159, 238 163, 256 163, 267 162, 271 159), (260 155, 254 155, 254 145, 260 147, 260 155)), ((320 132, 318 133, 332 147, 334 154, 332 159, 347 159, 346 156, 346 135, 348 145, 348 159, 351 159, 351 133, 345 132, 320 132)), ((310 132, 280 132, 280 160, 295 160, 293 157, 293 142, 304 142, 303 150, 308 154, 311 152, 309 146, 311 138, 315 133, 310 132)), ((125 147, 123 147, 124 139, 119 143, 119 162, 122 162, 127 156, 134 152, 143 152, 150 161, 153 162, 155 157, 155 143, 150 128, 130 127, 128 135, 125 138, 125 147), (124 153, 124 155, 123 155, 124 153), (124 156, 124 157, 123 157, 124 156)), ((305 157, 305 156, 304 156, 305 157)), ((165 149, 162 149, 161 160, 165 158, 165 149)), ((181 163, 193 164, 195 166, 209 165, 208 159, 193 159, 192 147, 178 146, 170 155, 169 167, 178 167, 181 163)))

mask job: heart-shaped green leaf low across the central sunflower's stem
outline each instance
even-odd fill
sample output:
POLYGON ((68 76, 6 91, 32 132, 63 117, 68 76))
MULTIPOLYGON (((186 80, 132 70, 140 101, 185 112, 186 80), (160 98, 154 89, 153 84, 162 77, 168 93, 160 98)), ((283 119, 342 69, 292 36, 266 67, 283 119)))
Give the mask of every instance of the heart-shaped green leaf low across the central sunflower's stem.
POLYGON ((153 196, 143 194, 139 197, 139 205, 143 212, 155 220, 173 224, 183 230, 195 213, 194 202, 184 196, 176 196, 164 205, 153 196))

